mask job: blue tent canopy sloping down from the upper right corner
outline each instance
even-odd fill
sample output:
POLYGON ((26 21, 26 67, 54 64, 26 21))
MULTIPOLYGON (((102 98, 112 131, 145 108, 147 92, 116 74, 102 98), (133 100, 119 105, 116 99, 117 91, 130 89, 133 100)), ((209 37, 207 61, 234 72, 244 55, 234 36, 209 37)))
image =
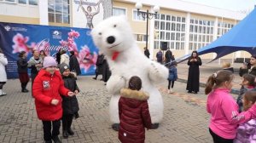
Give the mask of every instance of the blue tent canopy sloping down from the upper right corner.
MULTIPOLYGON (((256 54, 256 9, 241 20, 230 31, 226 32, 214 42, 198 49, 198 54, 216 53, 213 60, 239 50, 247 51, 250 54, 256 54)), ((187 60, 190 54, 181 57, 179 62, 187 60)))

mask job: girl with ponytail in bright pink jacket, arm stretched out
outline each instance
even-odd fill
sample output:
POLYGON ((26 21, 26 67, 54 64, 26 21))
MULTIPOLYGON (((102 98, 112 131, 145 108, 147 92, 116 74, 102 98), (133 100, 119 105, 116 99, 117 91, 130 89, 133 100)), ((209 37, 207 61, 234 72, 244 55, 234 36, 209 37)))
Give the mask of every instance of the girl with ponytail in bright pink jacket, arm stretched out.
POLYGON ((238 112, 238 105, 230 94, 234 76, 230 71, 219 71, 208 77, 205 93, 207 112, 211 114, 209 131, 214 143, 233 143, 238 124, 256 118, 256 105, 247 112, 238 112))

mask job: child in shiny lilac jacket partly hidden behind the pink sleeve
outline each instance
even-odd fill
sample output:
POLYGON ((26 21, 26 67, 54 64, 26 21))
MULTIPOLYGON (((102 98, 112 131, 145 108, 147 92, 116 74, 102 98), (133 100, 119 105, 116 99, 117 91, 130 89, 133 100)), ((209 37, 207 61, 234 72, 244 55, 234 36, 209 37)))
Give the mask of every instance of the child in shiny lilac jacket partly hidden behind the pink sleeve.
MULTIPOLYGON (((256 92, 247 91, 243 96, 243 109, 247 111, 256 101, 256 92)), ((234 143, 256 142, 256 120, 251 119, 247 123, 242 123, 237 129, 234 143)))

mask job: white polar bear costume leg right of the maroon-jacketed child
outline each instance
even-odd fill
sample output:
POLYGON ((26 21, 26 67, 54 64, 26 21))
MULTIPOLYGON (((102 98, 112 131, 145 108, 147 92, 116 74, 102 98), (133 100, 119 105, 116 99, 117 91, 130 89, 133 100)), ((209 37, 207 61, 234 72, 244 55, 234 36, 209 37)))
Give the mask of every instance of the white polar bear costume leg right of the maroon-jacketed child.
POLYGON ((150 97, 148 99, 149 113, 152 123, 160 123, 163 118, 164 103, 162 95, 157 89, 150 92, 150 97))

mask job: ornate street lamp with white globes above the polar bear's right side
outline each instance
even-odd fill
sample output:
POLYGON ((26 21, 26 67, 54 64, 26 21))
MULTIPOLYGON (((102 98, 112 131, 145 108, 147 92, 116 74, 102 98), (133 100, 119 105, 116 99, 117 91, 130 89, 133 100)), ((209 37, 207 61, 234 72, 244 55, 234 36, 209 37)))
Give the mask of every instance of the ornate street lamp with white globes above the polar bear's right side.
POLYGON ((153 10, 154 13, 149 13, 148 9, 147 12, 140 11, 143 8, 143 3, 136 3, 135 5, 137 9, 137 15, 142 15, 144 19, 147 19, 147 32, 146 32, 146 49, 148 49, 148 19, 151 20, 153 18, 157 18, 157 13, 160 11, 159 6, 154 6, 153 10))

